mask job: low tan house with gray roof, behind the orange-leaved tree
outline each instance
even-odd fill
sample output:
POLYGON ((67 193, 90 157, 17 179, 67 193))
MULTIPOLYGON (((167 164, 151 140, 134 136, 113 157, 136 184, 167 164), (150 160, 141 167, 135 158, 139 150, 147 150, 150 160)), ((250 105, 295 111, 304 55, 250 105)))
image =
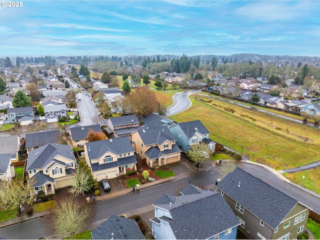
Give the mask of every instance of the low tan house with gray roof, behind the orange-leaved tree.
POLYGON ((100 124, 70 127, 69 136, 71 138, 72 146, 82 146, 88 142, 87 135, 90 131, 102 132, 104 134, 100 124))

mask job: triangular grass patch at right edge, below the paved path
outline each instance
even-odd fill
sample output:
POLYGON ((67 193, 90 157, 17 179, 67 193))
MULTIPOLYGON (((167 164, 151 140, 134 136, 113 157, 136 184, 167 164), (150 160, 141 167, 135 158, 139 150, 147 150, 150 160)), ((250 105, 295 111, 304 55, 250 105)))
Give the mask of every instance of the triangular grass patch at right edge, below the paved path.
POLYGON ((290 181, 320 194, 320 167, 294 173, 283 173, 283 176, 290 181))

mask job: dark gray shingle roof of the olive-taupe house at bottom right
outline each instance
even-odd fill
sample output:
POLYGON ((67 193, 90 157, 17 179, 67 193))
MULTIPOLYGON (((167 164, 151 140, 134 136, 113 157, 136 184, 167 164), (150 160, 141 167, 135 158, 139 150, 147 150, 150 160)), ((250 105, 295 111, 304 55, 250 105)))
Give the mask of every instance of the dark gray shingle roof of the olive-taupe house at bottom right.
POLYGON ((249 210, 273 229, 297 203, 297 200, 240 168, 228 173, 217 188, 239 202, 244 211, 249 210))

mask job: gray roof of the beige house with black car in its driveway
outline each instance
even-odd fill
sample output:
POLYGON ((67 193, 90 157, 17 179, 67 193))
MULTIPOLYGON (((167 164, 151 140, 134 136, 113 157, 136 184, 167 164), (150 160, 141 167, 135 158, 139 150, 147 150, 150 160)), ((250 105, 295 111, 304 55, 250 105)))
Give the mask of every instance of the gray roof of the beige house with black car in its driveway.
POLYGON ((111 140, 106 139, 85 143, 85 147, 88 150, 89 159, 97 159, 104 155, 107 151, 113 152, 114 154, 122 154, 134 151, 129 138, 126 136, 115 137, 111 140))

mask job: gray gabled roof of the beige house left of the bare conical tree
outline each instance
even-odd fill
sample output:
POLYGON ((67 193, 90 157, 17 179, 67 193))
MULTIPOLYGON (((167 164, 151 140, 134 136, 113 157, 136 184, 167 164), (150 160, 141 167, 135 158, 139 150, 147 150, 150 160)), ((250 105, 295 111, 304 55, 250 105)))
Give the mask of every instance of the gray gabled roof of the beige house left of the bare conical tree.
POLYGON ((68 158, 70 161, 75 161, 70 145, 48 143, 29 152, 25 170, 42 169, 42 167, 47 166, 51 161, 61 163, 54 159, 56 155, 68 158))

